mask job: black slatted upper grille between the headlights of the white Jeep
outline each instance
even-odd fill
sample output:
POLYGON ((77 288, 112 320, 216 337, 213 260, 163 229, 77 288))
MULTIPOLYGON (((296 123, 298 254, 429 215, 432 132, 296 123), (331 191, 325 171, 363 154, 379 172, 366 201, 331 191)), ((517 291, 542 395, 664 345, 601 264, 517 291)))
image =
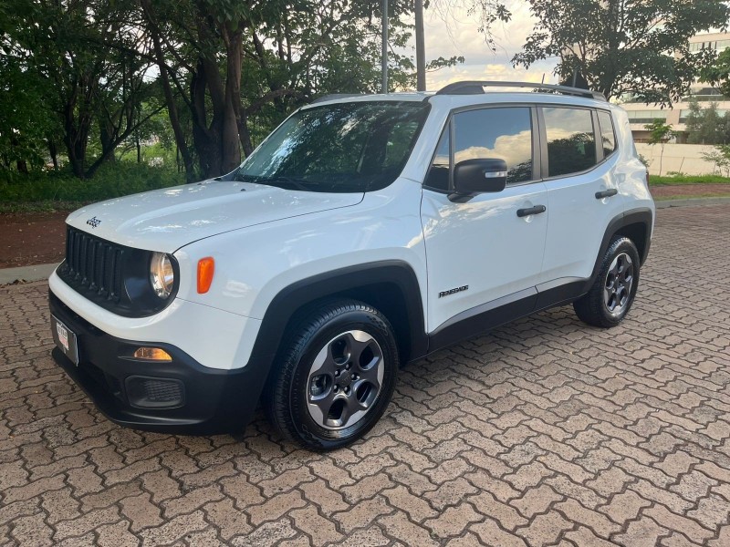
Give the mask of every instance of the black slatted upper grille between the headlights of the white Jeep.
MULTIPOLYGON (((118 304, 122 293, 125 248, 67 227, 66 263, 62 279, 79 293, 93 293, 118 304)), ((96 298, 95 298, 96 300, 96 298)))

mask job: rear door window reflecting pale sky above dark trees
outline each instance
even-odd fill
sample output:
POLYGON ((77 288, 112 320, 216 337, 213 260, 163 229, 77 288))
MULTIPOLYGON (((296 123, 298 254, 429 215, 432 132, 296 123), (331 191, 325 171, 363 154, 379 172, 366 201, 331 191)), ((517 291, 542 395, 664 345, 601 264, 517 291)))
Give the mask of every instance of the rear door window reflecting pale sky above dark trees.
POLYGON ((582 108, 543 108, 548 176, 559 177, 596 165, 593 116, 582 108))

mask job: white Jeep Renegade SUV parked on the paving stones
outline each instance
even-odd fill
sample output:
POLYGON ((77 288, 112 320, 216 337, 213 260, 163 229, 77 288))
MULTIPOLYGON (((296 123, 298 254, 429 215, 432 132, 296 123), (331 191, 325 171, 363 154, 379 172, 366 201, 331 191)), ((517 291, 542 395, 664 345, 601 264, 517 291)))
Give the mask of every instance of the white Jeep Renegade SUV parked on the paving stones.
POLYGON ((69 215, 54 356, 125 426, 240 430, 261 401, 336 449, 408 362, 555 305, 618 325, 653 218, 629 119, 599 94, 319 99, 224 177, 69 215))

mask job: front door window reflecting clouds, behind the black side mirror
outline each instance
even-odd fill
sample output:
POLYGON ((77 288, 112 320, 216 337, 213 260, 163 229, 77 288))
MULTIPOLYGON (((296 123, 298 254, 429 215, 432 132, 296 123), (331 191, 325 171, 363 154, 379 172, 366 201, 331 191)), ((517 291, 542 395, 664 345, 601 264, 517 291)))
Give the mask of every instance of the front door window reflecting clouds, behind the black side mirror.
POLYGON ((468 110, 454 116, 454 165, 464 160, 505 160, 507 184, 532 180, 529 107, 468 110))

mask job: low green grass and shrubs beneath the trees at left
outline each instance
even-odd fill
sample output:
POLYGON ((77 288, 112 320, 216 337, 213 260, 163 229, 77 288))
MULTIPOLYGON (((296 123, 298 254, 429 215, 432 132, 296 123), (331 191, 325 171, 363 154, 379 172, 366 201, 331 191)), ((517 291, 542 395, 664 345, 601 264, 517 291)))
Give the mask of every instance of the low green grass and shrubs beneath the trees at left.
POLYGON ((152 168, 127 161, 106 164, 87 180, 78 179, 68 170, 38 170, 27 175, 0 170, 0 203, 100 201, 184 181, 184 175, 171 168, 152 168))

